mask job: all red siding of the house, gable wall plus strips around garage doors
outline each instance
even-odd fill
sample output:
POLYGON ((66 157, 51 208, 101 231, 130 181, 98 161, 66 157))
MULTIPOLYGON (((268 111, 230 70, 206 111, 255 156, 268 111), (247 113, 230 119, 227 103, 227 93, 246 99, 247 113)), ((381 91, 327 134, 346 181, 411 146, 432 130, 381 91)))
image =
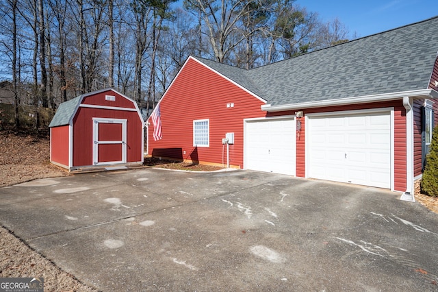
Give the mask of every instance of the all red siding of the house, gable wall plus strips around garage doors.
MULTIPOLYGON (((296 111, 263 112, 260 108, 263 104, 263 101, 244 89, 190 58, 160 101, 163 133, 161 140, 153 140, 154 129, 149 120, 149 154, 164 158, 226 163, 226 151, 221 140, 225 133, 234 132, 235 143, 229 146, 230 165, 244 168, 244 119, 294 115, 296 111), (234 107, 227 108, 227 104, 231 103, 234 107), (209 147, 193 146, 193 121, 201 119, 209 119, 209 147)), ((401 97, 394 101, 302 110, 306 115, 377 108, 394 108, 394 169, 391 171, 394 174, 394 189, 406 191, 407 119, 401 97)), ((305 177, 305 118, 297 121, 300 121, 301 127, 296 132, 296 176, 305 177)))

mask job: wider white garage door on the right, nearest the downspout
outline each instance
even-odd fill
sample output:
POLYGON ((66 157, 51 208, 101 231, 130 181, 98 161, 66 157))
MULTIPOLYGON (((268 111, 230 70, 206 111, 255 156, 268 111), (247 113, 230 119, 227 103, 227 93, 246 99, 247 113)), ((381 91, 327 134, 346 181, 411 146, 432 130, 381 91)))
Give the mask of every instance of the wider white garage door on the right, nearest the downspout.
POLYGON ((307 176, 391 188, 389 112, 309 117, 307 176))

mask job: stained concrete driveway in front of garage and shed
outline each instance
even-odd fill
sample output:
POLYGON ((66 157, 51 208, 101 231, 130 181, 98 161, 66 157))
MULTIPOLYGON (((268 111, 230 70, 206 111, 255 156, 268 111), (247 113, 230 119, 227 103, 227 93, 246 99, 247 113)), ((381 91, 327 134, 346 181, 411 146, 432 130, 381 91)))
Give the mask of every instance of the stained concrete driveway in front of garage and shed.
POLYGON ((399 197, 142 169, 0 188, 0 223, 103 291, 437 291, 438 215, 399 197))

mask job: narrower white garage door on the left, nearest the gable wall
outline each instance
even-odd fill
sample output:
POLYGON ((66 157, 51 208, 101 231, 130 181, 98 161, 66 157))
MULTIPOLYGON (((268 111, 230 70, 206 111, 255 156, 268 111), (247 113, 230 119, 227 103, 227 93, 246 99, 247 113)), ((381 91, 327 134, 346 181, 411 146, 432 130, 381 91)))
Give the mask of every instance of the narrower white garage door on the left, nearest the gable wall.
POLYGON ((295 121, 246 121, 245 169, 295 175, 295 121))

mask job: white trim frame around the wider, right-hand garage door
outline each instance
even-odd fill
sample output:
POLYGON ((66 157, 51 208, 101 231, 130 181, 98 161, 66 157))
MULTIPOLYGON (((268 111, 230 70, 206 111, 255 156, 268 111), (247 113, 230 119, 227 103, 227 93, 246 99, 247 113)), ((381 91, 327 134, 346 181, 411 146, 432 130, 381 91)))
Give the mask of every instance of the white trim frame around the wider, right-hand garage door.
POLYGON ((312 117, 331 117, 331 116, 350 116, 355 114, 374 114, 387 112, 390 116, 390 178, 391 178, 391 191, 394 191, 394 107, 388 108, 371 108, 366 110, 340 110, 336 112, 317 112, 311 114, 305 114, 305 178, 309 178, 310 171, 310 132, 309 132, 309 119, 312 117))

